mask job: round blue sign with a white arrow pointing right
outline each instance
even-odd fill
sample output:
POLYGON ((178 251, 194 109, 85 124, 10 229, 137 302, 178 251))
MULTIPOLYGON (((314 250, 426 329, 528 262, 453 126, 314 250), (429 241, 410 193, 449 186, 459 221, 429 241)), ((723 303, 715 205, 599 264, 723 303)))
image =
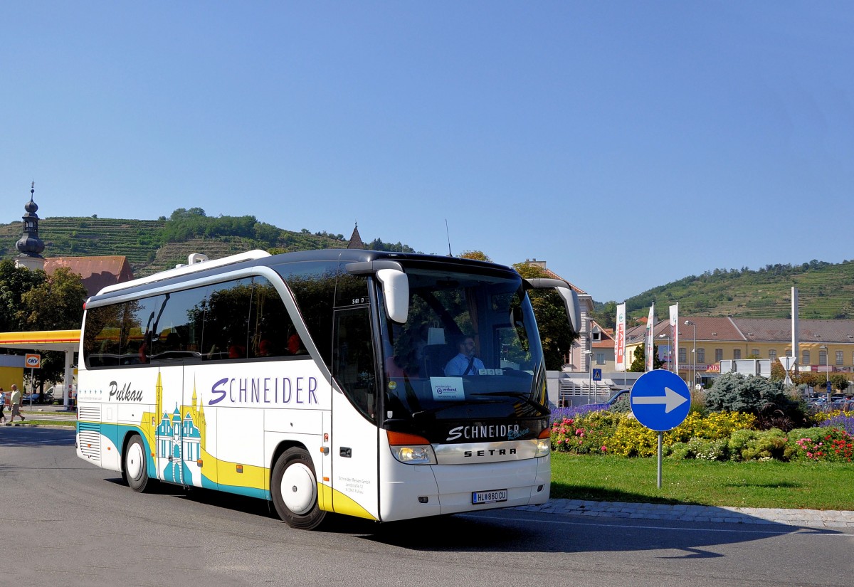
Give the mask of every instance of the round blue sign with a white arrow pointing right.
POLYGON ((691 392, 679 375, 655 369, 635 381, 629 405, 641 424, 650 430, 666 432, 685 421, 691 410, 691 392))

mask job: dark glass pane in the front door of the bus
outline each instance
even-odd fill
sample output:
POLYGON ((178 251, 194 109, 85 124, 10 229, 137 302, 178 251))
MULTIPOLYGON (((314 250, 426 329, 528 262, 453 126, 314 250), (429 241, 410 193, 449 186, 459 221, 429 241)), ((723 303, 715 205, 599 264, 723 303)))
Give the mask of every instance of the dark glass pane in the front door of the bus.
POLYGON ((332 375, 366 418, 376 421, 377 375, 367 307, 335 313, 332 375))

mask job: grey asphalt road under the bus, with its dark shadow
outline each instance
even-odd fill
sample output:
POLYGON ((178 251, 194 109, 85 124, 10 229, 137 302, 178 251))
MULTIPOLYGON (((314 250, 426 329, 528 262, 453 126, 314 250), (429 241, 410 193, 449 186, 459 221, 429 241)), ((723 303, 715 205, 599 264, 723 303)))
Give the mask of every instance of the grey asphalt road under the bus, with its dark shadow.
POLYGON ((0 585, 852 584, 854 532, 491 510, 285 526, 260 500, 137 494, 73 432, 0 427, 0 585))

